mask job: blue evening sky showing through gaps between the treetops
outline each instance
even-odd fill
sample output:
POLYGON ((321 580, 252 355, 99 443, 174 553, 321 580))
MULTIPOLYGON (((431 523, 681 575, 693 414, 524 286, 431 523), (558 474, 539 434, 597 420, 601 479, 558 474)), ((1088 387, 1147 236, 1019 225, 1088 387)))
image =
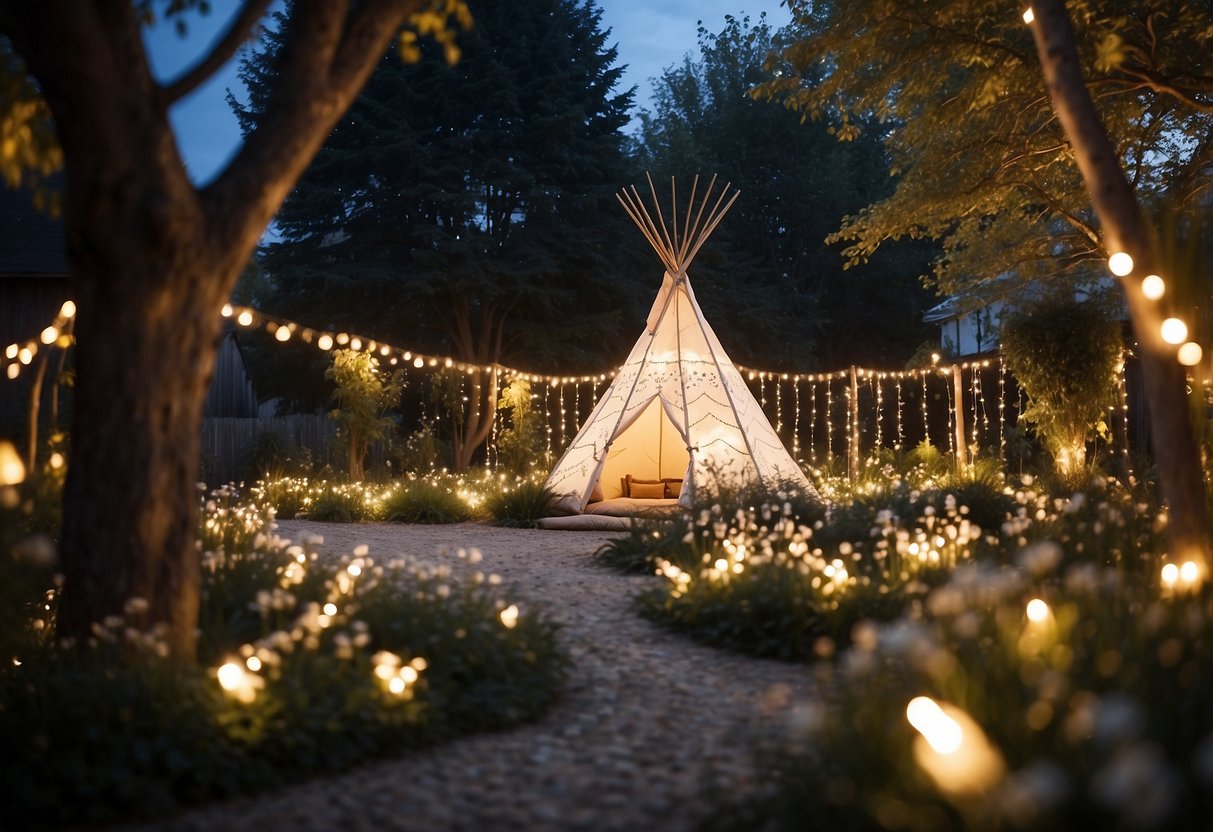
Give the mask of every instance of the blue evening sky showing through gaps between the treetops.
MULTIPOLYGON (((619 47, 619 61, 627 64, 623 89, 636 86, 642 107, 648 106, 650 79, 695 51, 699 21, 710 32, 718 32, 725 15, 748 13, 757 21, 759 13, 767 12, 776 27, 790 19, 781 0, 599 0, 598 5, 604 25, 611 29, 610 41, 619 47)), ((159 78, 175 78, 194 63, 238 7, 235 0, 212 0, 210 15, 187 18, 184 39, 171 25, 150 28, 146 40, 153 72, 159 78)), ((229 87, 237 96, 243 95, 235 67, 237 59, 230 61, 170 113, 186 166, 198 182, 218 173, 240 143, 240 129, 224 97, 229 87)))

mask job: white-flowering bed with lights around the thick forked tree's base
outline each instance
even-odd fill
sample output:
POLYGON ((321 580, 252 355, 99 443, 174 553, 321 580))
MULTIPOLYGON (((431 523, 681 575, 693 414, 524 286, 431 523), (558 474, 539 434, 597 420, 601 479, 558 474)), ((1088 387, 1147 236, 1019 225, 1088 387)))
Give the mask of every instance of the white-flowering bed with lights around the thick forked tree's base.
POLYGON ((198 665, 133 626, 141 599, 52 645, 52 585, 0 587, 29 621, 0 667, 0 826, 163 814, 348 768, 535 718, 563 682, 556 625, 508 603, 477 552, 321 558, 227 490, 206 497, 199 538, 198 665))

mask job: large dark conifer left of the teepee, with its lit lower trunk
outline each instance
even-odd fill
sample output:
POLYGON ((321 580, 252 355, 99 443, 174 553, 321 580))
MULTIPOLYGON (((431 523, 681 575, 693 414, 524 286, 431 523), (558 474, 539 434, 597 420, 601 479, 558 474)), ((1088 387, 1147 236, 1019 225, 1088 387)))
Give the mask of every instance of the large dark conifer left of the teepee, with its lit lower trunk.
MULTIPOLYGON (((455 65, 386 56, 277 217, 272 310, 312 325, 526 367, 605 365, 627 289, 613 192, 632 92, 593 2, 472 4, 455 65)), ((244 118, 273 79, 247 58, 244 118)), ((617 351, 627 344, 619 344, 617 351)), ((468 377, 466 467, 491 428, 490 374, 468 377)))

